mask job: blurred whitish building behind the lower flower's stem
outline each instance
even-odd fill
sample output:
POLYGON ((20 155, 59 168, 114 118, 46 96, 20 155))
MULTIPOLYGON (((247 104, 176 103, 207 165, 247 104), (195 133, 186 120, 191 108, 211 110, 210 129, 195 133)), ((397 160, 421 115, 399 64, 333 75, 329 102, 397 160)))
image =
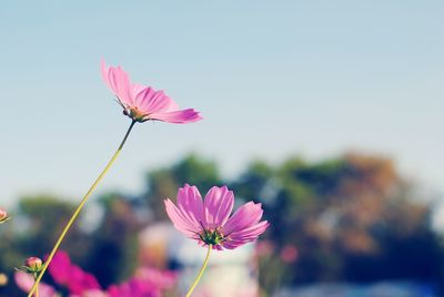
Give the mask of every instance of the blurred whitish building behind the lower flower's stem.
MULTIPOLYGON (((147 227, 140 233, 139 243, 141 265, 176 270, 180 274, 179 290, 185 294, 199 273, 206 249, 165 223, 147 227)), ((258 296, 258 267, 253 249, 254 245, 249 244, 234 250, 213 250, 193 296, 258 296)))

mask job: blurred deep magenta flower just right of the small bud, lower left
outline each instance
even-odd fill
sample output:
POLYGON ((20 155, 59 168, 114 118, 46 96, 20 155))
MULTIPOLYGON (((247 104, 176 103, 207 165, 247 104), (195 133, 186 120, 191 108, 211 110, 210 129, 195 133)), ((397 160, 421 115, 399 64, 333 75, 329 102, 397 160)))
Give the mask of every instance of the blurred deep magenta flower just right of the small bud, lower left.
POLYGON ((65 286, 72 294, 100 289, 99 281, 92 274, 83 272, 71 263, 64 252, 58 252, 49 265, 49 273, 59 285, 65 286))

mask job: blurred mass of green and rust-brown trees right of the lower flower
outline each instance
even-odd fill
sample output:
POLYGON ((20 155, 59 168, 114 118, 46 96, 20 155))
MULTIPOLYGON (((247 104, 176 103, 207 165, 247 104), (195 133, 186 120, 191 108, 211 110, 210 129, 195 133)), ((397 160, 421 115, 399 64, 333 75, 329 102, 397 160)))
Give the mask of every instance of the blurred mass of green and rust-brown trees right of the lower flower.
POLYGON ((279 281, 437 281, 442 275, 431 209, 390 160, 352 153, 319 163, 292 157, 275 170, 256 162, 233 186, 259 197, 272 223, 265 236, 275 259, 266 259, 261 274, 269 289, 279 281), (287 245, 297 247, 294 262, 283 256, 287 245), (282 279, 268 269, 276 262, 286 270, 282 279))

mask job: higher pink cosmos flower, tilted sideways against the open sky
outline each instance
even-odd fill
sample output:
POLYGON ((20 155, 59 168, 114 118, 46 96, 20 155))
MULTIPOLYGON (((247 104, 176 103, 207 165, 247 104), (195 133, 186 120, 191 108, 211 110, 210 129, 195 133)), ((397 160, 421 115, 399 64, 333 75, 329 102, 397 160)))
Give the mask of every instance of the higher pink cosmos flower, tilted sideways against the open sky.
POLYGON ((179 110, 178 104, 163 91, 154 91, 151 86, 131 83, 130 76, 120 66, 107 66, 102 61, 101 69, 103 80, 118 96, 123 113, 134 121, 158 120, 185 124, 202 119, 193 109, 179 110))

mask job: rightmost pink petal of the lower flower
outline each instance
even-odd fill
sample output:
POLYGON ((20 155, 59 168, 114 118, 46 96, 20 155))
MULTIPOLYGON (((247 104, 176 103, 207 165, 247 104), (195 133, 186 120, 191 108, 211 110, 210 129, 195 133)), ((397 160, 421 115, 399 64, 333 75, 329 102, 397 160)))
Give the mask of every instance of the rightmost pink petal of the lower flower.
POLYGON ((263 213, 261 206, 260 203, 254 204, 253 202, 242 205, 226 222, 223 227, 223 234, 229 235, 233 232, 239 232, 258 224, 263 213))

